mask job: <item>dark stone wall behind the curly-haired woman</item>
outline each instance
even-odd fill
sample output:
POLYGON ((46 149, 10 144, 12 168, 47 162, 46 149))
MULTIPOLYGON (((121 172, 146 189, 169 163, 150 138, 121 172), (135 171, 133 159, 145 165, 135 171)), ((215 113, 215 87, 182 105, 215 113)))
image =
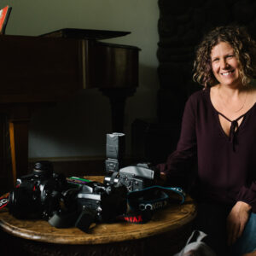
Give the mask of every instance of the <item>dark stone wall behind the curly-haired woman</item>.
POLYGON ((256 38, 256 2, 250 0, 159 0, 157 57, 158 118, 162 123, 179 121, 184 102, 200 85, 192 81, 195 46, 215 26, 247 26, 256 38))

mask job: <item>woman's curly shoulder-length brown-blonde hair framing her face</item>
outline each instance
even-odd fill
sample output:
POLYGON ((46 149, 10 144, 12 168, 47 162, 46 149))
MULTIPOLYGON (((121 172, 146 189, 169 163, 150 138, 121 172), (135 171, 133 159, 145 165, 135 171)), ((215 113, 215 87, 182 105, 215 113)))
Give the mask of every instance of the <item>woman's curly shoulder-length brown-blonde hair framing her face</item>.
POLYGON ((212 73, 211 52, 220 42, 232 46, 240 64, 241 82, 248 84, 256 73, 256 43, 241 26, 218 26, 203 38, 195 55, 194 81, 205 87, 218 84, 212 73))

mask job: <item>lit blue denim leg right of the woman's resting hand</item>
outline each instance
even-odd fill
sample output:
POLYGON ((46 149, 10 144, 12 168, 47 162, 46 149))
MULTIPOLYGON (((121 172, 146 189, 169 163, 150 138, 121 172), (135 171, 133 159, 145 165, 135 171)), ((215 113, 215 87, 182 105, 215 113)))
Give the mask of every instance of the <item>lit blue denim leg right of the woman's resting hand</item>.
POLYGON ((232 256, 241 256, 256 250, 256 213, 251 213, 240 238, 231 247, 232 256))

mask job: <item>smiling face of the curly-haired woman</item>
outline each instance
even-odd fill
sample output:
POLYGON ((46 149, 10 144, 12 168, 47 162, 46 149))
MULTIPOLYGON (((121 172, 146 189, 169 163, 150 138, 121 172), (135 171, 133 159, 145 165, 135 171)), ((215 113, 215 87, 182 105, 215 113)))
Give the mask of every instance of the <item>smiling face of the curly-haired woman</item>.
POLYGON ((239 62, 232 46, 220 42, 212 48, 212 73, 219 84, 232 87, 240 86, 239 62))

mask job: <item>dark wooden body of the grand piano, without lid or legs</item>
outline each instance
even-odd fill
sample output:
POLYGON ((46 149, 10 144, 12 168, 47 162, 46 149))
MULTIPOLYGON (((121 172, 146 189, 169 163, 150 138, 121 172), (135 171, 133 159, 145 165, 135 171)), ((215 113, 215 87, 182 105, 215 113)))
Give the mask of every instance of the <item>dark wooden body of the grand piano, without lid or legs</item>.
POLYGON ((47 102, 88 88, 136 88, 137 47, 0 36, 0 103, 47 102))

